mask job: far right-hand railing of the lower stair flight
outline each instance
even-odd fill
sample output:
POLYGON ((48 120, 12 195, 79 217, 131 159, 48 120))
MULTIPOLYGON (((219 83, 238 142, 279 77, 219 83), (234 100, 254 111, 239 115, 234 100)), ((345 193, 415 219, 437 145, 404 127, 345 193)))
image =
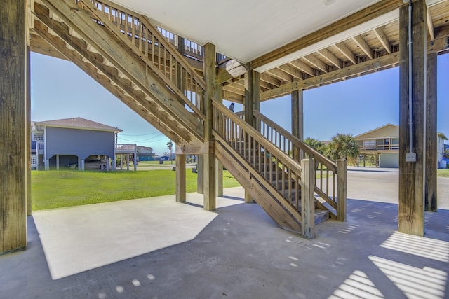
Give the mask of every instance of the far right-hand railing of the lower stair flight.
POLYGON ((290 158, 298 163, 304 158, 302 153, 305 157, 314 158, 316 161, 315 193, 335 209, 335 211, 330 209, 333 217, 344 221, 346 218, 346 162, 335 163, 329 160, 259 111, 253 111, 253 116, 260 134, 290 158))

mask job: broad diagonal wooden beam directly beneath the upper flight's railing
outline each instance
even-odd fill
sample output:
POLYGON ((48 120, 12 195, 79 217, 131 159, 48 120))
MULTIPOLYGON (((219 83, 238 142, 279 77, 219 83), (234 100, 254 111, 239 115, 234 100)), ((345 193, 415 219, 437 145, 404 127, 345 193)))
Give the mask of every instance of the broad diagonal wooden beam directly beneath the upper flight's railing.
POLYGON ((91 15, 82 9, 78 9, 74 2, 55 0, 42 0, 42 2, 52 11, 55 11, 82 39, 114 64, 114 67, 130 78, 140 90, 156 100, 177 123, 189 128, 189 132, 197 139, 203 139, 203 127, 195 116, 185 113, 184 105, 180 104, 173 93, 173 90, 177 90, 177 88, 168 89, 166 83, 161 81, 163 75, 154 75, 151 74, 151 71, 148 71, 148 64, 144 64, 141 55, 138 56, 129 50, 130 45, 126 36, 116 33, 113 28, 98 26, 92 21, 91 15))

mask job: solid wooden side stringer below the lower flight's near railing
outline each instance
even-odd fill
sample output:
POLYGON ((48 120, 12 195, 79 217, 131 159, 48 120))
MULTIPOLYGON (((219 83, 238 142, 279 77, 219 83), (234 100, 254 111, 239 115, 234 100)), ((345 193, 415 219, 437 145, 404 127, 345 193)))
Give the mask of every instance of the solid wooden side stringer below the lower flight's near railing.
POLYGON ((236 158, 239 153, 223 140, 215 136, 215 155, 226 169, 239 181, 241 186, 255 199, 257 204, 283 229, 301 233, 302 217, 279 195, 279 192, 243 159, 236 158))

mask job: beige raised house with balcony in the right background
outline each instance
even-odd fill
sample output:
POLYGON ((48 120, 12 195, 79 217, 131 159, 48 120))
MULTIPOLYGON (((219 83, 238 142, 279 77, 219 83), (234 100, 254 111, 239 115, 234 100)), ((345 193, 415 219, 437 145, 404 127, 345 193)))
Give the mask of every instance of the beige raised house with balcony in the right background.
MULTIPOLYGON (((437 167, 445 168, 443 161, 445 134, 437 134, 437 167)), ((360 148, 363 166, 381 168, 399 167, 399 126, 391 123, 354 137, 360 148), (368 161, 367 161, 368 160, 368 161), (367 163, 370 162, 369 165, 367 163)))

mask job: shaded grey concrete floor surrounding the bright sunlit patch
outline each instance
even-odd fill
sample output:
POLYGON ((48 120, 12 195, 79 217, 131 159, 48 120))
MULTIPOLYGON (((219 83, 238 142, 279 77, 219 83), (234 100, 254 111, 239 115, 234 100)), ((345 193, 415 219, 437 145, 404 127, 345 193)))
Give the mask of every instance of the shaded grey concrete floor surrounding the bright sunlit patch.
MULTIPOLYGON (((225 199, 243 200, 243 194, 233 197, 236 193, 225 190, 225 199)), ((182 213, 202 213, 195 204, 180 204, 182 213)), ((70 213, 59 212, 60 218, 70 213)), ((152 217, 135 213, 126 223, 128 234, 152 217)), ((348 221, 317 225, 313 240, 279 229, 257 204, 206 214, 215 217, 187 242, 60 279, 52 279, 43 250, 47 241, 41 242, 29 217, 28 249, 0 256, 0 297, 449 298, 448 210, 426 213, 426 237, 413 237, 396 232, 397 204, 348 200, 348 221)), ((190 228, 177 229, 188 233, 190 228)), ((149 240, 130 237, 121 246, 131 249, 149 240)))

